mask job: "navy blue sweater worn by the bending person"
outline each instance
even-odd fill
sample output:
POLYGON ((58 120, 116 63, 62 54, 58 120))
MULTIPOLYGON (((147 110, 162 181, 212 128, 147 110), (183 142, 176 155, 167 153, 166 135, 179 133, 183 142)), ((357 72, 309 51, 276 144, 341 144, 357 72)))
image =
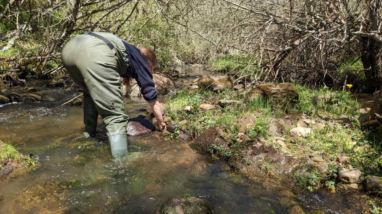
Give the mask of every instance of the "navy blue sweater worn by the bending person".
POLYGON ((149 103, 157 101, 158 92, 155 88, 155 83, 152 81, 152 74, 147 67, 146 59, 134 45, 129 44, 125 40, 122 40, 122 42, 126 47, 129 67, 127 68, 126 75, 121 77, 133 77, 141 88, 143 98, 149 103))

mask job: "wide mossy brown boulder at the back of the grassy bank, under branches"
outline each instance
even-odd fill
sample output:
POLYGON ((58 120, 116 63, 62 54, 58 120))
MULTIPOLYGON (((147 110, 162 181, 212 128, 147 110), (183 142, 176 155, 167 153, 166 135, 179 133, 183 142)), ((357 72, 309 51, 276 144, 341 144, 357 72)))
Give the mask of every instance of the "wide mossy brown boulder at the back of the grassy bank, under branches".
POLYGON ((259 85, 259 89, 261 89, 261 91, 263 91, 269 98, 273 97, 276 99, 292 97, 296 91, 296 87, 292 83, 265 83, 259 85))

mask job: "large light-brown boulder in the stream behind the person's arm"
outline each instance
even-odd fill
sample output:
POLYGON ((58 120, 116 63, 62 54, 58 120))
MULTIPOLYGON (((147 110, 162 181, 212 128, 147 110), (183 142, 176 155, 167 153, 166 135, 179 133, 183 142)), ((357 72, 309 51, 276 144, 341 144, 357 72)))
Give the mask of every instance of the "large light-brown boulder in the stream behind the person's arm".
MULTIPOLYGON (((166 93, 168 91, 175 90, 176 84, 175 81, 168 75, 164 73, 153 73, 152 74, 152 81, 155 83, 155 88, 157 89, 158 93, 166 93)), ((122 95, 124 96, 131 96, 131 97, 140 97, 141 94, 141 88, 139 88, 138 83, 135 79, 131 80, 131 87, 128 87, 125 84, 121 85, 121 91, 122 95)))

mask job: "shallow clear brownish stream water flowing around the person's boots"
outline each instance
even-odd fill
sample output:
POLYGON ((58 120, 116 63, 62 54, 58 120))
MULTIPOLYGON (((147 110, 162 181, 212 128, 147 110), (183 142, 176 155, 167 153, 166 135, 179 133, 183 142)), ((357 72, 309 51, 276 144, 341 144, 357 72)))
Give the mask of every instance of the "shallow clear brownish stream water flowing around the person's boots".
MULTIPOLYGON (((206 73, 183 70, 194 75, 206 73)), ((43 83, 30 86, 38 88, 43 83)), ((262 175, 249 179, 231 171, 221 161, 199 152, 192 141, 166 139, 155 132, 129 137, 129 156, 113 160, 104 134, 83 138, 82 107, 49 111, 74 97, 74 91, 40 89, 39 94, 56 101, 0 107, 0 139, 13 141, 39 163, 35 170, 0 181, 0 213, 153 214, 166 200, 181 195, 201 196, 219 214, 287 213, 278 192, 290 190, 288 187, 262 175)), ((22 88, 11 91, 27 94, 22 88)), ((161 97, 161 101, 166 99, 161 97)), ((141 109, 147 107, 142 99, 125 99, 130 117, 142 115, 141 109)), ((306 194, 301 201, 309 208, 319 200, 306 194)), ((318 208, 346 213, 340 205, 332 208, 323 203, 318 208)))

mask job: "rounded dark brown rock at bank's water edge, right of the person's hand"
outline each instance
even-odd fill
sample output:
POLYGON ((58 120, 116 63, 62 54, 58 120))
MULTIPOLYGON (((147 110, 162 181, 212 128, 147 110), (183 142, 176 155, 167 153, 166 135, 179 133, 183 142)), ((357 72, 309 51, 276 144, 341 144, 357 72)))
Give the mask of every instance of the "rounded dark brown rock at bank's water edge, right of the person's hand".
POLYGON ((195 144, 207 152, 212 144, 228 147, 227 136, 219 127, 209 128, 195 139, 195 144))

